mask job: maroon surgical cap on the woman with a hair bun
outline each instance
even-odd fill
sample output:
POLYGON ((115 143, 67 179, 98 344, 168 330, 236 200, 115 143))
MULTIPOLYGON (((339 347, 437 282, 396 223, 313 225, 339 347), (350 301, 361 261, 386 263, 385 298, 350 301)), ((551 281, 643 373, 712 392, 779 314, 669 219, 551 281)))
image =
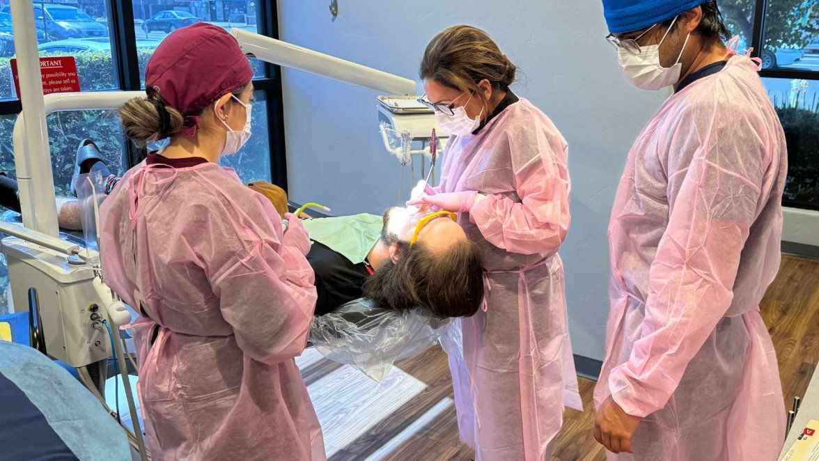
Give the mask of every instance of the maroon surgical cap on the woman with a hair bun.
POLYGON ((200 22, 173 32, 156 47, 145 71, 145 88, 182 113, 182 134, 189 137, 197 133, 207 106, 251 79, 253 69, 236 38, 200 22))

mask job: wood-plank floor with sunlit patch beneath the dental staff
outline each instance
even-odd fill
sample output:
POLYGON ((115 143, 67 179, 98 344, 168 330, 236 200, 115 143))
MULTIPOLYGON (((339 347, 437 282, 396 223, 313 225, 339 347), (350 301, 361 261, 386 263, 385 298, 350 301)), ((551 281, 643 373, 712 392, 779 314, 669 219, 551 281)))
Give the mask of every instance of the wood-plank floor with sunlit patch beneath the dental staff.
MULTIPOLYGON (((785 405, 803 395, 819 360, 819 260, 785 256, 762 301, 779 358, 785 405)), ((446 355, 431 347, 396 364, 382 386, 314 350, 298 360, 335 460, 471 459, 459 441, 446 355)), ((567 409, 552 459, 604 459, 591 436, 595 382, 580 380, 584 410, 567 409)))

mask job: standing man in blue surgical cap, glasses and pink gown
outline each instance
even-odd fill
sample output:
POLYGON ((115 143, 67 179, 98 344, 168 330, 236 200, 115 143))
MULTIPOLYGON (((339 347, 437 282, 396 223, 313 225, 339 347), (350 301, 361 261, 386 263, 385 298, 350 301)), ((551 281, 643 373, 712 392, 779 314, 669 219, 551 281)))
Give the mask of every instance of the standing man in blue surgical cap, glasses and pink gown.
POLYGON ((758 305, 780 262, 785 134, 713 0, 604 0, 623 74, 674 93, 629 152, 609 224, 595 389, 610 458, 776 459, 776 354, 758 305))

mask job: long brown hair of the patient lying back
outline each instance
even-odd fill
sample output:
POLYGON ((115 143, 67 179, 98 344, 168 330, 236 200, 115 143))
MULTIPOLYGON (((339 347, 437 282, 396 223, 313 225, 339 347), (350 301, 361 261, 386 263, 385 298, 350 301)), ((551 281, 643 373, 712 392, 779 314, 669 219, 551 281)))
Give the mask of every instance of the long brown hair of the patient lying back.
POLYGON ((483 261, 473 242, 455 243, 433 253, 416 243, 409 246, 382 232, 387 244, 396 243, 399 260, 387 260, 364 282, 364 296, 394 310, 421 306, 440 317, 468 317, 483 300, 483 261))

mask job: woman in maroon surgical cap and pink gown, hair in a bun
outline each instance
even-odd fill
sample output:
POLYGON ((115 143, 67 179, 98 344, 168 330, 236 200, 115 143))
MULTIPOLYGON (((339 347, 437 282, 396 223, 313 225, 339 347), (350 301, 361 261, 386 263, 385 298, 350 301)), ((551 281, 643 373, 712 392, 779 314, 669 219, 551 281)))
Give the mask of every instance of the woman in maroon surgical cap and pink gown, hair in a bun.
POLYGON ((140 314, 153 459, 325 459, 293 360, 316 299, 308 237, 218 163, 250 137, 252 78, 230 34, 192 25, 156 48, 147 97, 120 110, 134 142, 170 139, 101 210, 106 282, 140 314))

